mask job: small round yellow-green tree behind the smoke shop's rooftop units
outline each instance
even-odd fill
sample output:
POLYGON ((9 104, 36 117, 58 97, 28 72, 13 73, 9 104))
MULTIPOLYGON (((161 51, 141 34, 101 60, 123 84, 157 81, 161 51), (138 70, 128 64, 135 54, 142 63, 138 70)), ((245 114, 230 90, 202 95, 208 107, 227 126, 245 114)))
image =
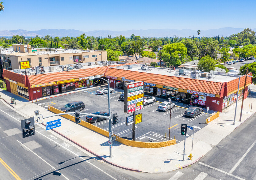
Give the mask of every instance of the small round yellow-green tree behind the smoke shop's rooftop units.
POLYGON ((207 55, 199 60, 197 63, 197 69, 204 72, 210 72, 211 70, 215 69, 216 63, 216 60, 207 55))

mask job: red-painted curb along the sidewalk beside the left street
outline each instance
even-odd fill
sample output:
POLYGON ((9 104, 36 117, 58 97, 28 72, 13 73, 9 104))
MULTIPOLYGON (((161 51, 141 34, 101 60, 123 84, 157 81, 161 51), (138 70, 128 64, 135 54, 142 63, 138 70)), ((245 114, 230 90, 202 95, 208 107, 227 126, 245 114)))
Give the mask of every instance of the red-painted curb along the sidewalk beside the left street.
MULTIPOLYGON (((41 123, 42 125, 46 126, 44 123, 41 123)), ((74 140, 70 139, 69 137, 65 136, 64 134, 62 133, 59 133, 58 131, 56 131, 55 129, 51 129, 52 131, 54 131, 55 133, 59 134, 60 136, 66 138, 67 140, 73 142, 74 144, 78 145, 80 148, 83 148, 84 150, 86 150, 87 152, 90 152, 91 154, 93 154, 94 156, 96 156, 97 158, 103 160, 104 162, 106 163, 109 163, 110 165, 113 165, 113 166, 116 166, 116 167, 119 167, 119 168, 122 168, 122 169, 125 169, 125 170, 129 170, 129 171, 135 171, 135 172, 143 172, 143 171, 140 171, 138 169, 133 169, 133 168, 129 168, 129 167, 124 167, 124 166, 120 166, 118 164, 115 164, 115 163, 112 163, 110 162, 109 160, 107 160, 106 158, 102 157, 102 156, 99 156, 97 155, 95 152, 92 152, 90 149, 82 146, 81 144, 75 142, 74 140)))

